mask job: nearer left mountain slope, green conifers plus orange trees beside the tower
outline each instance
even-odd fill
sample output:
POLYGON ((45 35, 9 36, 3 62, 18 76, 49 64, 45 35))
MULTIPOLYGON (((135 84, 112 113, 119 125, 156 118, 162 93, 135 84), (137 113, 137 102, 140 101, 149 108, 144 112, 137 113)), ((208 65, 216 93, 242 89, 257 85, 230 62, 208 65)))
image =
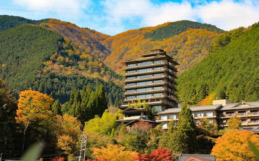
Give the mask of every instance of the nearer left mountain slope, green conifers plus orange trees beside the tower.
POLYGON ((74 88, 104 84, 109 104, 120 105, 122 77, 62 35, 35 25, 0 32, 0 76, 18 90, 52 93, 61 103, 74 88))

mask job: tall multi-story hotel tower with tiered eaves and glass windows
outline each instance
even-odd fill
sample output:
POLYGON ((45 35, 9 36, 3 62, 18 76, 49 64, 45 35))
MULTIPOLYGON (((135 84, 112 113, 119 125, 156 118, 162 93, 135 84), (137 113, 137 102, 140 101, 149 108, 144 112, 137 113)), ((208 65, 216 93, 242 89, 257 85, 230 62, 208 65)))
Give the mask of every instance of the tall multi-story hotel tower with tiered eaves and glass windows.
MULTIPOLYGON (((125 118, 133 119, 136 113, 139 113, 136 112, 139 110, 128 109, 129 104, 138 100, 145 101, 155 111, 177 107, 175 65, 178 63, 165 51, 154 49, 139 59, 130 59, 123 64, 125 65, 125 94, 121 109, 124 110, 125 118)), ((140 116, 144 116, 144 113, 141 112, 140 116)))

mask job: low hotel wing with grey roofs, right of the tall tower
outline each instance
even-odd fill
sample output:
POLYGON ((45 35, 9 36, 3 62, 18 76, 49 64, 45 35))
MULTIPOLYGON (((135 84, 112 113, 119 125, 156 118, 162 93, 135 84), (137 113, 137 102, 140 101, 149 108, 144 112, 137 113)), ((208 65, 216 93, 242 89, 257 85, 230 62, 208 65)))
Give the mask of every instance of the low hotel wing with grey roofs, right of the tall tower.
MULTIPOLYGON (((206 118, 210 123, 218 125, 219 129, 228 127, 227 121, 237 116, 242 121, 242 128, 259 127, 259 102, 232 103, 228 100, 214 100, 213 105, 190 107, 196 124, 200 119, 206 118)), ((181 108, 167 109, 159 112, 156 122, 163 123, 163 128, 167 128, 170 120, 178 121, 181 108)))

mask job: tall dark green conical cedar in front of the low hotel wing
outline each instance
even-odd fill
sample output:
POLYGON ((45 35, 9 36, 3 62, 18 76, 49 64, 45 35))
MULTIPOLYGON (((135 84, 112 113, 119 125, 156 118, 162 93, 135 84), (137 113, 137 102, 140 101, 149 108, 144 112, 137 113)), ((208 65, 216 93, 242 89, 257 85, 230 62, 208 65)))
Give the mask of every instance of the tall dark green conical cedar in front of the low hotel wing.
POLYGON ((197 149, 196 130, 192 111, 186 105, 182 105, 179 113, 177 130, 173 133, 173 152, 194 154, 197 149))

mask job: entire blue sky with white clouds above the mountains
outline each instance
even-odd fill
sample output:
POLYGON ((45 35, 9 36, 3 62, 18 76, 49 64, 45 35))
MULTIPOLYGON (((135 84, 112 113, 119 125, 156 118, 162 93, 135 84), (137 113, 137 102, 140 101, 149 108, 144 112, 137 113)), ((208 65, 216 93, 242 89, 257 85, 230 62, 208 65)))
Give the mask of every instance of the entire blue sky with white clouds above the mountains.
POLYGON ((109 35, 177 20, 231 30, 259 21, 259 0, 0 0, 0 14, 56 18, 109 35))

